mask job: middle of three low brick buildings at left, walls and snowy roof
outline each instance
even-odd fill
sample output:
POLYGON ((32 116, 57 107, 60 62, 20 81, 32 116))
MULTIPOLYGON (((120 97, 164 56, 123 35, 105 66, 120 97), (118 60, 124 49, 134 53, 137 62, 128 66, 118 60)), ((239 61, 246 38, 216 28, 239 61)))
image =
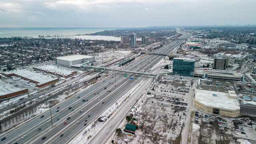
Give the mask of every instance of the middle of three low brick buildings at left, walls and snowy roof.
POLYGON ((37 73, 32 70, 26 70, 26 69, 16 69, 10 72, 2 72, 2 75, 6 77, 16 76, 16 77, 22 78, 29 82, 35 83, 36 87, 38 88, 47 86, 59 80, 58 78, 49 77, 45 74, 37 73))

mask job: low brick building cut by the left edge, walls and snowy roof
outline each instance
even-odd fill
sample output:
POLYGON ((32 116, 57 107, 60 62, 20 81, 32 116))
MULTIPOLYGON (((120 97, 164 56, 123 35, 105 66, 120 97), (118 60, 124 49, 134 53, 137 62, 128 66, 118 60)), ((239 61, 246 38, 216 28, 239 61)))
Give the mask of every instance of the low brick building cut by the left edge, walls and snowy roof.
POLYGON ((0 80, 0 99, 10 98, 28 92, 27 88, 17 87, 8 82, 0 80))

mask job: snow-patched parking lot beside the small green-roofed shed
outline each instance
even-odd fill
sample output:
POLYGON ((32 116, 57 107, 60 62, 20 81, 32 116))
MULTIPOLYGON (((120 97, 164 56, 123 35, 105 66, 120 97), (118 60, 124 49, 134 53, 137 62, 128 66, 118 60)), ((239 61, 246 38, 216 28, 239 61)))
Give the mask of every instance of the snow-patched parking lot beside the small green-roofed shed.
POLYGON ((186 101, 152 94, 147 96, 129 121, 138 126, 135 134, 123 132, 115 141, 118 144, 181 144, 181 132, 187 112, 186 101))

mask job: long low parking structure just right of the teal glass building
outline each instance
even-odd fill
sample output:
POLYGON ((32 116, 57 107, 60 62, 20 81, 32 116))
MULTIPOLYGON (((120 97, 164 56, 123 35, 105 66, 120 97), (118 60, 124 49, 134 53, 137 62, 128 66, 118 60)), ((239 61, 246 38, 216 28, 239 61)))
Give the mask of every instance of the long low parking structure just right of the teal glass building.
POLYGON ((227 72, 221 70, 207 70, 207 69, 195 69, 194 77, 196 78, 211 78, 216 80, 234 80, 244 81, 244 77, 240 72, 227 72))

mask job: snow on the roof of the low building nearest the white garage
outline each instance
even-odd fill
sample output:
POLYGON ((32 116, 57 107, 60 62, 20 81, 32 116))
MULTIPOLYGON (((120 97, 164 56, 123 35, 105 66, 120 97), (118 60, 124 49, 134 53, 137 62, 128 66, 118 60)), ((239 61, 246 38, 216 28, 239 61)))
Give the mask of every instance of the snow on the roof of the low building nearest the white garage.
POLYGON ((50 65, 50 64, 44 64, 44 65, 41 65, 41 66, 34 66, 34 68, 47 70, 49 72, 56 72, 57 74, 63 74, 65 76, 67 76, 69 74, 72 74, 72 72, 75 72, 73 70, 69 70, 69 69, 66 69, 66 68, 59 67, 59 66, 53 66, 53 65, 50 65))

